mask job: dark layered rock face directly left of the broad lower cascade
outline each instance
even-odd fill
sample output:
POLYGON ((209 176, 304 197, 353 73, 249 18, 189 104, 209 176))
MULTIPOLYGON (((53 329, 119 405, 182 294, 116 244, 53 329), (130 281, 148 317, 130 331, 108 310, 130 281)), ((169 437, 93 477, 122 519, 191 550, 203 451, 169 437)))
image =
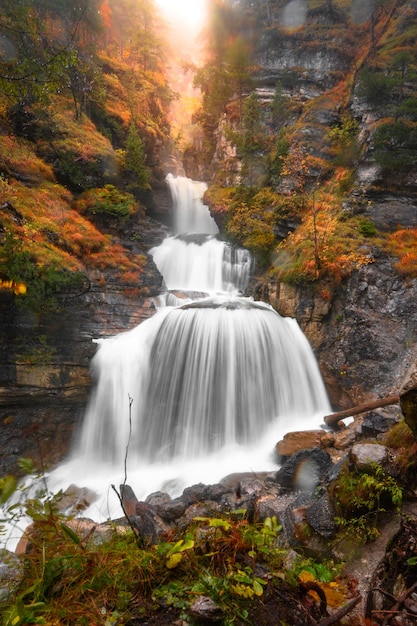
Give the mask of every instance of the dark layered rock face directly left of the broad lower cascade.
MULTIPOLYGON (((146 246, 162 241, 165 229, 147 218, 146 246)), ((58 463, 69 451, 91 387, 94 339, 133 328, 155 312, 152 296, 162 277, 151 257, 132 292, 112 275, 94 273, 85 292, 70 294, 59 313, 33 313, 0 292, 0 475, 19 474, 17 461, 30 457, 38 468, 58 463)))

